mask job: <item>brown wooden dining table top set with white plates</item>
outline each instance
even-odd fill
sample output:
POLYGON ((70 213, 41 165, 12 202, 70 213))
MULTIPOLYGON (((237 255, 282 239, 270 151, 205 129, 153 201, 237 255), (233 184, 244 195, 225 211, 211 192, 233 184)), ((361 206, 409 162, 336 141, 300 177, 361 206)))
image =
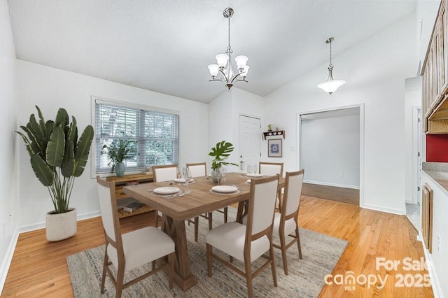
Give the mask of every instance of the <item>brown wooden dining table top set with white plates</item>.
MULTIPOLYGON (((221 185, 235 185, 238 188, 237 192, 229 194, 211 193, 211 187, 218 184, 214 183, 209 176, 194 178, 193 183, 188 183, 190 194, 185 194, 183 197, 167 199, 166 196, 153 192, 155 188, 168 186, 179 187, 182 192, 186 190, 185 183, 174 183, 174 181, 128 185, 123 187, 123 192, 161 211, 173 220, 188 220, 248 199, 250 196, 250 185, 246 183, 248 178, 245 173, 227 173, 221 185)), ((284 178, 279 178, 279 189, 284 186, 284 181, 284 178)))

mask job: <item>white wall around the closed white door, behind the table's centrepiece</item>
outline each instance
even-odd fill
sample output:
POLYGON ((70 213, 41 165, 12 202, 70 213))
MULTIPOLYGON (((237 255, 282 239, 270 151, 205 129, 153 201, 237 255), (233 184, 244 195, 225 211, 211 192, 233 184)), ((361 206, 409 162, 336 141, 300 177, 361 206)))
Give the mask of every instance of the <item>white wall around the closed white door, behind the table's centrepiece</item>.
MULTIPOLYGON (((209 104, 209 149, 219 141, 229 141, 235 150, 228 160, 239 164, 239 115, 262 119, 263 103, 262 97, 237 87, 232 87, 230 92, 225 91, 214 99, 209 104)), ((210 165, 211 160, 209 157, 210 165)), ((238 171, 238 168, 232 166, 229 170, 238 171)))

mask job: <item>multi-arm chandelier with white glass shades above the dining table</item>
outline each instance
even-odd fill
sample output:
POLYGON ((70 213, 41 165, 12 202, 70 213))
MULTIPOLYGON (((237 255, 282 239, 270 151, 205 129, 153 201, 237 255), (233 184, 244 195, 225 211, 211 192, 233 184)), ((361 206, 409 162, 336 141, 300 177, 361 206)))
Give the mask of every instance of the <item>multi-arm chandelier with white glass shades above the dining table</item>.
POLYGON ((235 73, 232 69, 232 47, 230 47, 230 17, 233 15, 233 9, 228 7, 225 8, 224 17, 229 20, 229 44, 227 50, 225 50, 225 54, 216 55, 216 62, 218 64, 210 64, 209 71, 211 75, 211 80, 217 80, 223 82, 230 91, 230 88, 233 86, 233 83, 236 82, 246 82, 247 72, 249 70, 249 66, 246 65, 248 57, 244 55, 240 55, 235 57, 235 62, 237 62, 237 73, 235 73), (220 77, 218 78, 218 73, 220 77))

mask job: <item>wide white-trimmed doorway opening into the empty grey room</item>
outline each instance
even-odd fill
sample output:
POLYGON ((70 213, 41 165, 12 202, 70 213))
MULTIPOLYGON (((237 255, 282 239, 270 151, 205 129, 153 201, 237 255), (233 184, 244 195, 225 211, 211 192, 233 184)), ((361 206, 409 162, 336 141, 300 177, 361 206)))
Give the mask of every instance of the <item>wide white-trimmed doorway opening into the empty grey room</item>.
POLYGON ((298 114, 302 194, 362 205, 363 122, 363 105, 298 114))

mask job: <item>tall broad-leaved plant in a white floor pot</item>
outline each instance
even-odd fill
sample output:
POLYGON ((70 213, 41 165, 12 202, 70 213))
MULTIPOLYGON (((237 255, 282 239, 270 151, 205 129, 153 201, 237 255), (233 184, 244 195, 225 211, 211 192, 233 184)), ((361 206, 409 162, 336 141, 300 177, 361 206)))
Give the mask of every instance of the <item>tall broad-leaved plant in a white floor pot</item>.
POLYGON ((69 208, 74 179, 79 177, 87 163, 94 136, 87 125, 78 139, 76 119, 64 108, 59 108, 55 121, 45 122, 41 109, 36 106, 38 120, 31 114, 26 126, 20 128, 29 153, 31 167, 38 180, 48 188, 55 210, 45 215, 48 241, 59 241, 76 234, 76 209, 69 208))

